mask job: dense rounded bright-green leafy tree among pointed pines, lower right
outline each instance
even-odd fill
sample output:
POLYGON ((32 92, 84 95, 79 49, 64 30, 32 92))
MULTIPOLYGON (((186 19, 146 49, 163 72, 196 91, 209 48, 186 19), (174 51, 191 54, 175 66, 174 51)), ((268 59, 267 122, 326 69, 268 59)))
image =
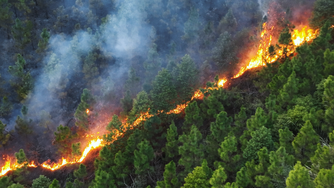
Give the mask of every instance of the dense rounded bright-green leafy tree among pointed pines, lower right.
POLYGON ((248 142, 242 156, 247 161, 257 161, 259 159, 257 152, 263 147, 267 147, 269 151, 273 151, 275 149, 274 143, 271 140, 270 129, 264 126, 251 133, 251 139, 248 142))

